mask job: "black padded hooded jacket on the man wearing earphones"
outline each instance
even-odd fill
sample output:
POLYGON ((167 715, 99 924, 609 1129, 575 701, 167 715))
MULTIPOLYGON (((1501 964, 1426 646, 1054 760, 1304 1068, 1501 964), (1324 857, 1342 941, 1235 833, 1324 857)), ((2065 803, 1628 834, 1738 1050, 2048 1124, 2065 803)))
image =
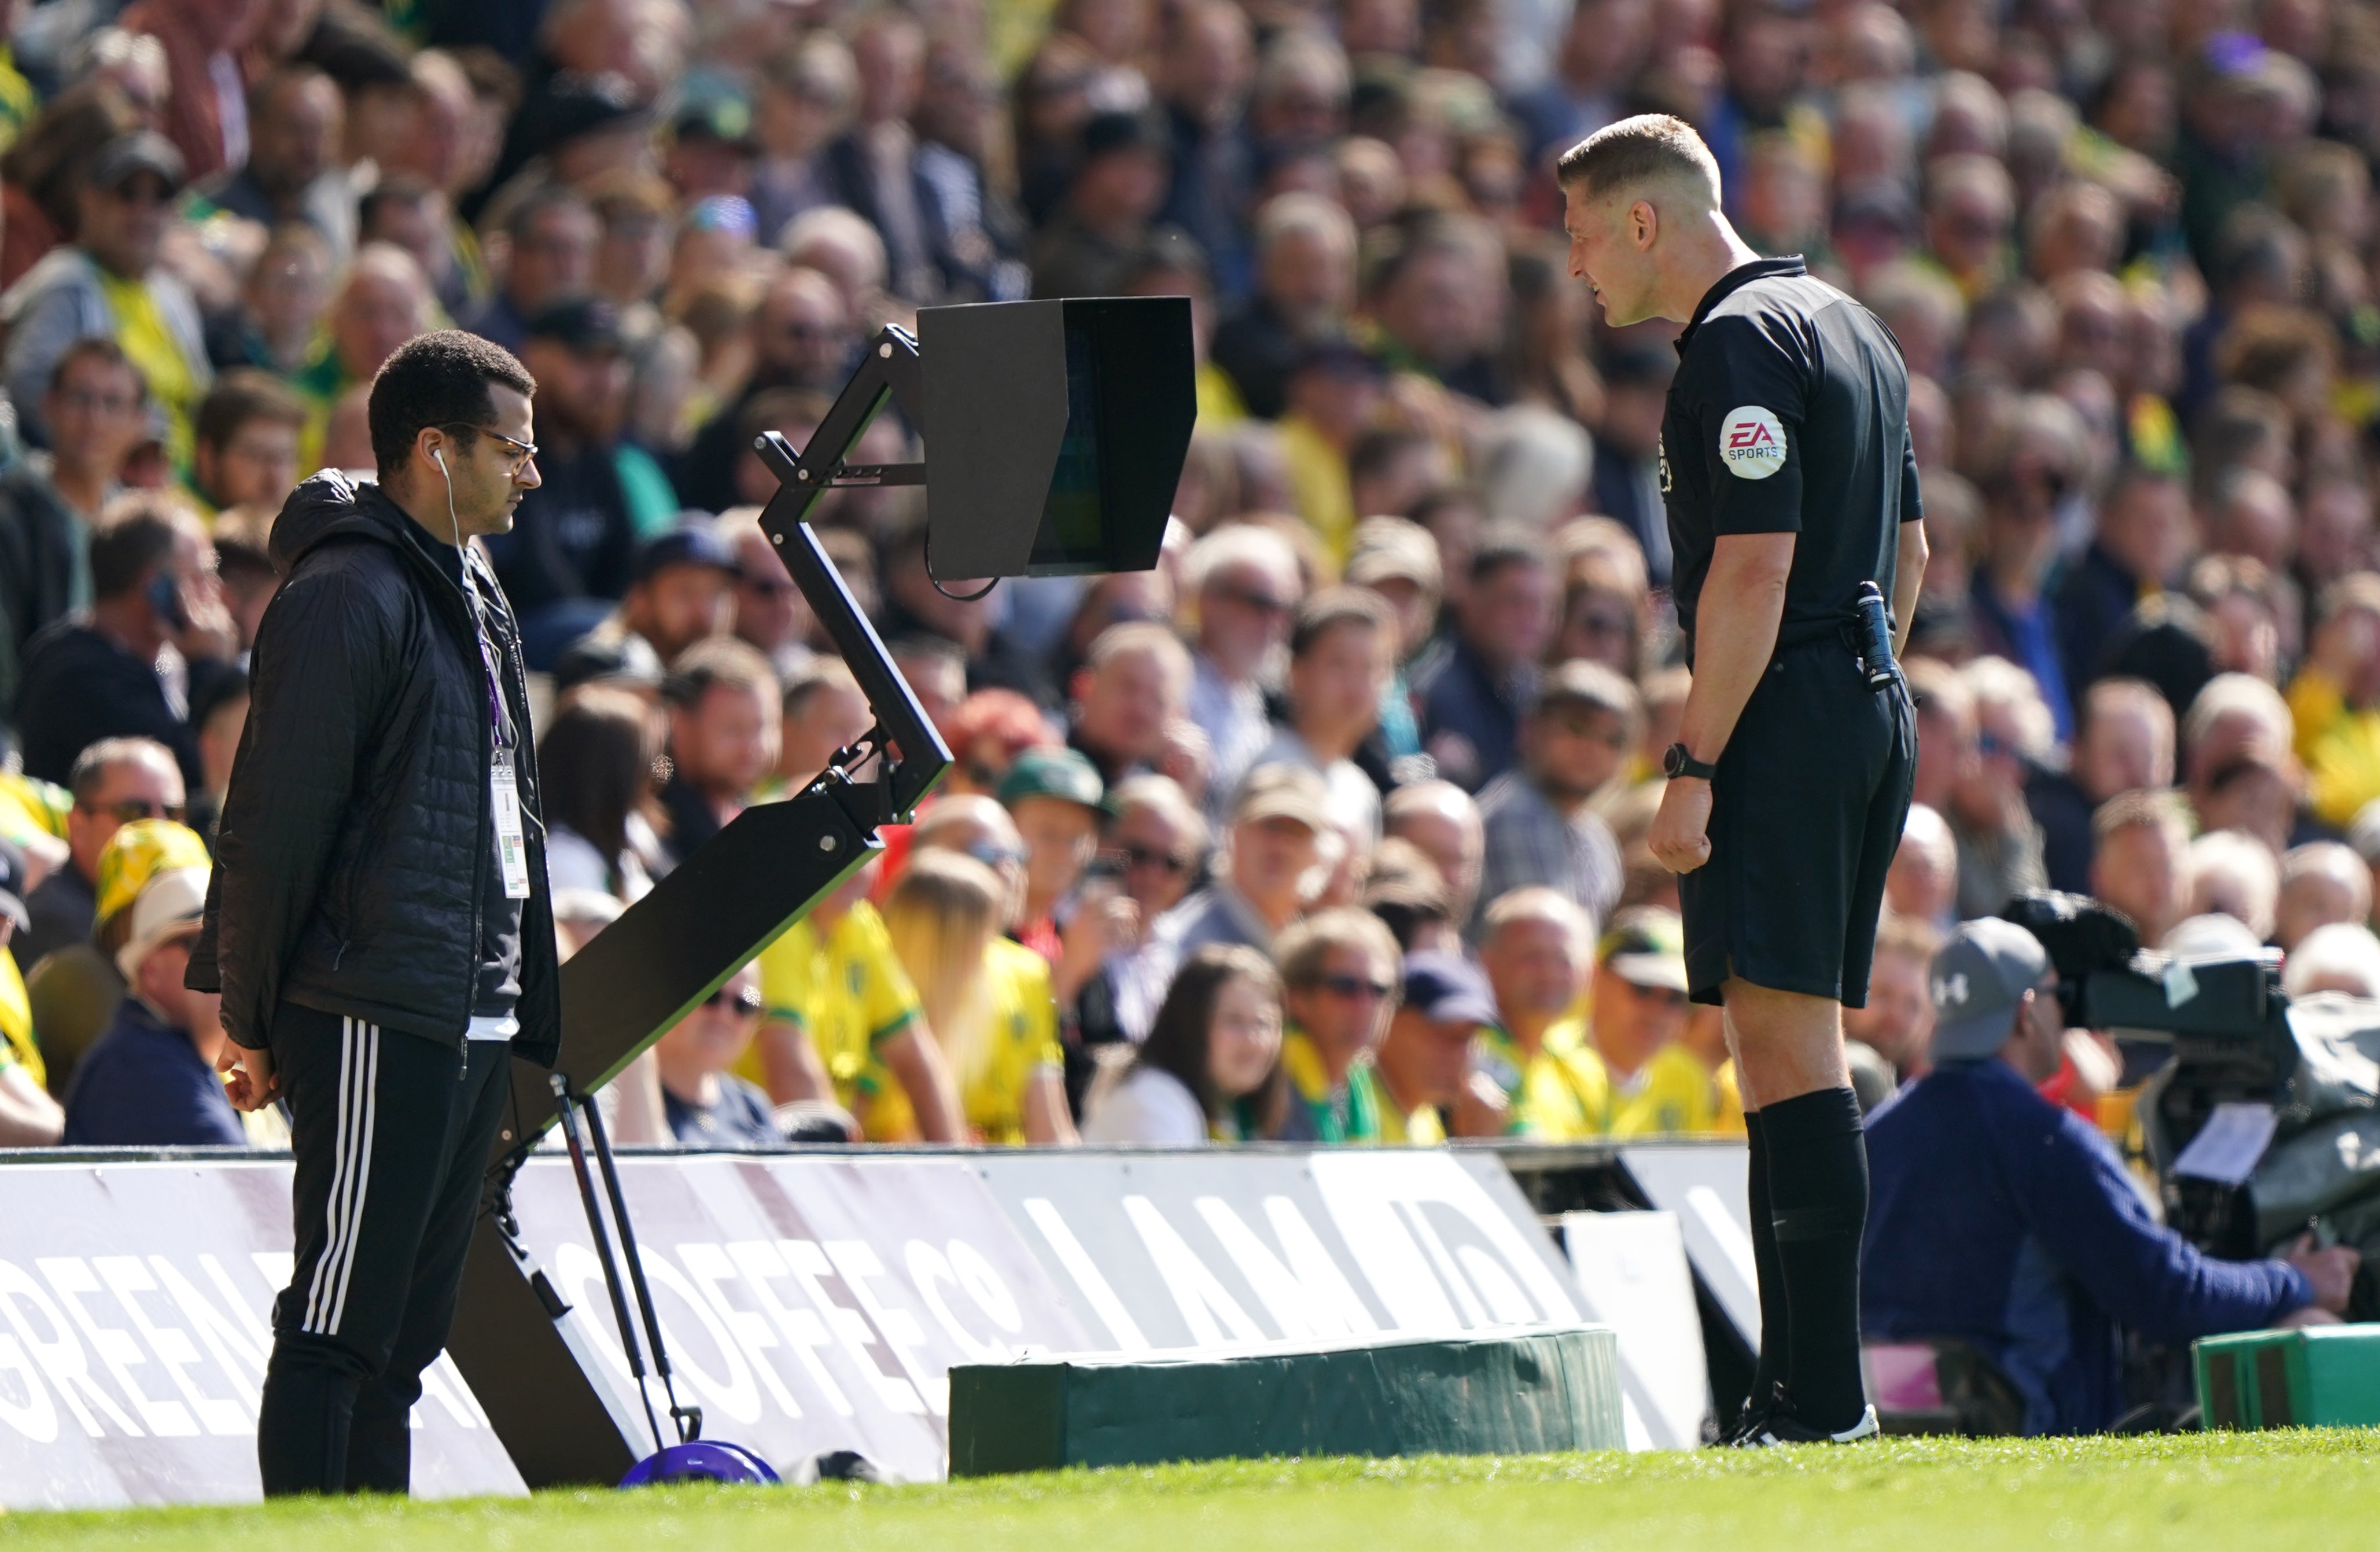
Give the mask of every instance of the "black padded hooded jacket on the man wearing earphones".
MULTIPOLYGON (((462 1045, 481 964, 481 878, 495 859, 488 688, 462 583, 371 483, 321 471, 281 507, 281 590, 252 657, 248 731, 217 828, 190 985, 224 993, 224 1031, 269 1045, 281 1000, 462 1045)), ((512 721, 528 726, 519 624, 466 550, 495 617, 512 721)), ((528 831, 521 1033, 552 1066, 562 993, 538 759, 519 752, 528 831)))

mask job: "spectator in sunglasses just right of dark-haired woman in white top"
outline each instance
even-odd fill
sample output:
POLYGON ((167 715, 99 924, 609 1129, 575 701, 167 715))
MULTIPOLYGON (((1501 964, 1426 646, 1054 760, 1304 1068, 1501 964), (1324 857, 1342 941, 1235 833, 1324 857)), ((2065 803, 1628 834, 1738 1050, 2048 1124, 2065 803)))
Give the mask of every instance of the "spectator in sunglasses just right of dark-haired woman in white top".
POLYGON ((1276 1135, 1283 1143, 1378 1143, 1388 1102, 1373 1052, 1404 978, 1397 940, 1371 912, 1330 909, 1285 931, 1273 952, 1288 988, 1280 1071, 1290 1078, 1276 1135))

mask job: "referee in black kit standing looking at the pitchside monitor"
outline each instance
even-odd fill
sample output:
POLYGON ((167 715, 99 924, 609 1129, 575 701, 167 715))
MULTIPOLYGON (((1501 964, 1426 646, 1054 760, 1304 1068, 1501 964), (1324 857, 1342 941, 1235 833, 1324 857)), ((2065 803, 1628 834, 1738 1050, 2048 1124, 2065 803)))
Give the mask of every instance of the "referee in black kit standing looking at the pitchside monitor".
POLYGON ((1718 164, 1664 114, 1557 171, 1571 274, 1614 324, 1683 321, 1661 490, 1695 688, 1652 852, 1678 881, 1697 1002, 1728 1014, 1752 1133, 1761 1357, 1735 1443, 1875 1433, 1859 1369, 1868 1154, 1842 1009, 1868 1000, 1916 724, 1861 586, 1906 636, 1925 571, 1909 369, 1875 317, 1721 214, 1718 164))

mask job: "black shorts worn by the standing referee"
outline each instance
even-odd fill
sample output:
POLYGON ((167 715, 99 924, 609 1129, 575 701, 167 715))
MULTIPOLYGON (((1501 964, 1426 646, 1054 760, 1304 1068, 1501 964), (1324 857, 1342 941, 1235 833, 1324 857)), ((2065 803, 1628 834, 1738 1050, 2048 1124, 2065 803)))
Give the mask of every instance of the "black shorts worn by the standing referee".
POLYGON ((1711 859, 1678 878, 1695 1002, 1742 976, 1868 1005, 1916 766, 1906 688, 1871 690, 1833 636, 1775 652, 1718 757, 1711 859))

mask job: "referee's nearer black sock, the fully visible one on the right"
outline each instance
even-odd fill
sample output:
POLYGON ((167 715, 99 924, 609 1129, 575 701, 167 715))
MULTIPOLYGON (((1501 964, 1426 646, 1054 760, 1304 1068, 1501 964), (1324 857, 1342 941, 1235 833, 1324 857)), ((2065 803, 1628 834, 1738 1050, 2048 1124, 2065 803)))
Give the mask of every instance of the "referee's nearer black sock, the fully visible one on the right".
MULTIPOLYGON (((1785 1273, 1785 1393, 1821 1428, 1868 1404, 1859 1373, 1859 1240, 1868 1226, 1868 1147, 1859 1097, 1821 1088, 1761 1107, 1768 1214, 1785 1273)), ((1764 1343, 1766 1345, 1766 1343, 1764 1343)))

